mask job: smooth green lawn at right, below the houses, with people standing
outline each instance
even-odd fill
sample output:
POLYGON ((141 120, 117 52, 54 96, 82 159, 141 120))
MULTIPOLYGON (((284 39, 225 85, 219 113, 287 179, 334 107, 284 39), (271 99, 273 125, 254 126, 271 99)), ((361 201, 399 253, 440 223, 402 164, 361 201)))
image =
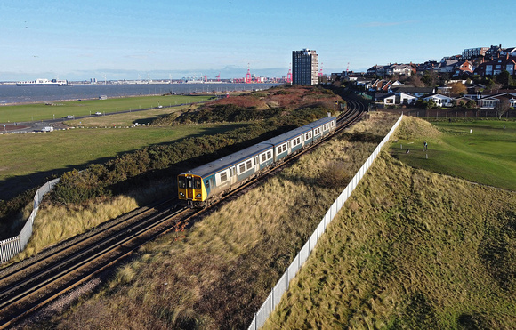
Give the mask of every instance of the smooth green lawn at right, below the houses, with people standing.
POLYGON ((516 122, 477 120, 432 124, 442 134, 426 140, 427 152, 423 151, 423 139, 416 138, 391 143, 393 155, 416 168, 516 190, 516 122))

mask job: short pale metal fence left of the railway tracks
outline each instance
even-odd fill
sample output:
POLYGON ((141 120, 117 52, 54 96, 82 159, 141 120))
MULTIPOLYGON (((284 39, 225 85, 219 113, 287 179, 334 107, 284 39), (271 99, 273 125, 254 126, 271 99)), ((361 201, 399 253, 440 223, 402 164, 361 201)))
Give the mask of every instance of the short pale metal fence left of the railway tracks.
POLYGON ((36 218, 39 204, 43 200, 44 194, 53 189, 59 179, 54 179, 46 182, 40 189, 37 189, 34 195, 34 207, 32 213, 28 217, 27 222, 20 230, 20 234, 16 237, 11 237, 0 241, 0 262, 8 262, 14 255, 19 254, 25 246, 27 246, 28 239, 32 236, 32 225, 34 218, 36 218))

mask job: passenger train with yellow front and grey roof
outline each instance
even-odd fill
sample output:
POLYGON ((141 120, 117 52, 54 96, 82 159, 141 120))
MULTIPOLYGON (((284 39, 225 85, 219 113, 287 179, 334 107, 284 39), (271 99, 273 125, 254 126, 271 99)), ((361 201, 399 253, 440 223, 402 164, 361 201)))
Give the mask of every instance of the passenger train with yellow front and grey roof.
POLYGON ((336 117, 324 117, 240 150, 178 176, 178 196, 184 205, 205 207, 336 128, 336 117))

